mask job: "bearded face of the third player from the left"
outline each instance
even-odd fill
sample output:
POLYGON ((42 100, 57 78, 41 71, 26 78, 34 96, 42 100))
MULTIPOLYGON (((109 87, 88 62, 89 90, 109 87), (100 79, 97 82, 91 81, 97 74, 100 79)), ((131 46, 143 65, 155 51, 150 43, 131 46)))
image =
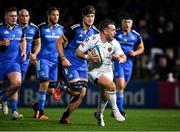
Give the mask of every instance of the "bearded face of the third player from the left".
POLYGON ((59 21, 59 11, 58 10, 51 11, 51 13, 49 15, 49 21, 53 25, 58 23, 58 21, 59 21))

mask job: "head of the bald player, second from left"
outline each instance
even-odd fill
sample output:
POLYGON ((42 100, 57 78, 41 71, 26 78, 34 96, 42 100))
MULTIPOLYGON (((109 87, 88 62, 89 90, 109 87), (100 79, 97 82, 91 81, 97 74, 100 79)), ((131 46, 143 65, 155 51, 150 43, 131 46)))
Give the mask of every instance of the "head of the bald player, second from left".
POLYGON ((22 25, 26 25, 29 23, 29 19, 30 19, 30 16, 29 16, 29 12, 24 10, 22 12, 19 13, 19 23, 22 24, 22 25))

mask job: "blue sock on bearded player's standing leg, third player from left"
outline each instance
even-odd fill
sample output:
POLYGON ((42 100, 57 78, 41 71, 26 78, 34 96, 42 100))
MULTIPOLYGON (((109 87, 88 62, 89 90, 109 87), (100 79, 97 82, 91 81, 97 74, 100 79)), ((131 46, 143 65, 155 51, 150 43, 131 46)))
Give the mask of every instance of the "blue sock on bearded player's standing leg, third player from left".
POLYGON ((38 106, 39 106, 40 111, 44 110, 45 101, 46 101, 46 92, 39 91, 39 93, 38 93, 38 106))

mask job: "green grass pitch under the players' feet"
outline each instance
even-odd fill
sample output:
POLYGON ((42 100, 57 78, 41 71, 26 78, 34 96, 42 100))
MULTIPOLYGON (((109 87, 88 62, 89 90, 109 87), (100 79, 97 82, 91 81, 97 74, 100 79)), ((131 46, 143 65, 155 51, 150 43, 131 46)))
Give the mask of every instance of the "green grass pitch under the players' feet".
POLYGON ((0 131, 180 131, 180 110, 127 109, 126 121, 119 123, 105 111, 105 127, 97 125, 95 109, 77 109, 71 116, 72 125, 58 123, 63 108, 46 109, 48 121, 33 119, 31 108, 21 108, 23 120, 11 120, 0 114, 0 131))

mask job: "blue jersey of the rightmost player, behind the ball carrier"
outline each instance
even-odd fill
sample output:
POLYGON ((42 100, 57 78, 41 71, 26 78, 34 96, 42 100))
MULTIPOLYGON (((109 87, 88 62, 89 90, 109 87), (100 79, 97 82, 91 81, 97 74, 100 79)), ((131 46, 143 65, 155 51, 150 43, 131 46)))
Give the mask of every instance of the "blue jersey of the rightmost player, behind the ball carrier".
POLYGON ((132 59, 132 56, 128 54, 129 50, 135 50, 138 46, 144 45, 140 34, 135 30, 125 34, 121 29, 117 29, 115 38, 120 43, 127 59, 132 59))

